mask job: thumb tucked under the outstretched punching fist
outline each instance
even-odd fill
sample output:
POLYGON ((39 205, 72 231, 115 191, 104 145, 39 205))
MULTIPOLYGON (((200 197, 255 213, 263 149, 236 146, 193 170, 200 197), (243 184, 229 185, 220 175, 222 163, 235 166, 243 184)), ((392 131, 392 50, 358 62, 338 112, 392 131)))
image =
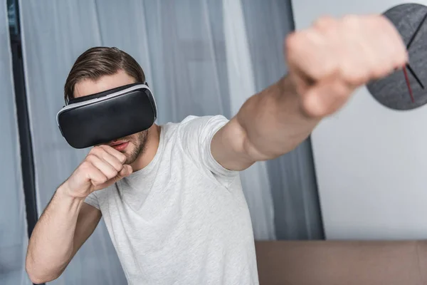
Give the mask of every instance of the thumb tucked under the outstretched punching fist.
POLYGON ((347 102, 353 90, 337 77, 318 81, 302 95, 302 108, 310 117, 330 115, 347 102))

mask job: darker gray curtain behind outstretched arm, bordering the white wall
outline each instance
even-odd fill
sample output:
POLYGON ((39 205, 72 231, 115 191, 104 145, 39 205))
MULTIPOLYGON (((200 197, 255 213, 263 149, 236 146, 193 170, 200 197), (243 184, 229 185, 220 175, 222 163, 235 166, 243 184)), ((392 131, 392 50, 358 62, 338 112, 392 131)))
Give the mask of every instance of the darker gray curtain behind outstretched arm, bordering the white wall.
MULTIPOLYGON (((256 92, 287 71, 286 35, 294 27, 290 0, 242 0, 256 92)), ((322 217, 310 139, 267 162, 277 239, 323 239, 322 217)))

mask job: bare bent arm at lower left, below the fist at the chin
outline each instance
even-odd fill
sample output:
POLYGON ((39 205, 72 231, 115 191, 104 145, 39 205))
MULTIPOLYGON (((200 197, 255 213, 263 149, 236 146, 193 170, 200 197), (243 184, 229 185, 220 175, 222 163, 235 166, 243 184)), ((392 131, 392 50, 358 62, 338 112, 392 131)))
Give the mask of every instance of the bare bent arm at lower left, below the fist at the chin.
POLYGON ((35 284, 52 281, 63 273, 78 249, 90 237, 101 212, 84 199, 56 190, 34 227, 28 243, 26 271, 35 284))

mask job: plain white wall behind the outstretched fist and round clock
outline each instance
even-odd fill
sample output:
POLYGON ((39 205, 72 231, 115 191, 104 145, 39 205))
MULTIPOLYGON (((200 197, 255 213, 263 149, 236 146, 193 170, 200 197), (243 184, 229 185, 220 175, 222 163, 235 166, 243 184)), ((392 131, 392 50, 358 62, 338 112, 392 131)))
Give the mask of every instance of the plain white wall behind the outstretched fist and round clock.
MULTIPOLYGON (((297 29, 322 15, 383 13, 427 1, 294 0, 297 29)), ((426 66, 427 68, 427 66, 426 66)), ((427 106, 408 112, 359 88, 312 134, 327 239, 427 238, 427 106)))

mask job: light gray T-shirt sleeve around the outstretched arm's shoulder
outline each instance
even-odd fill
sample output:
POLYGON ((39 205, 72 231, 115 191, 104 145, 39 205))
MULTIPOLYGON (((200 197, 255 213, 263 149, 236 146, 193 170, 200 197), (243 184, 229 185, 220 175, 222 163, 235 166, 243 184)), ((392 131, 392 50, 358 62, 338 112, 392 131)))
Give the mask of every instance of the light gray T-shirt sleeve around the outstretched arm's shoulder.
POLYGON ((211 141, 216 132, 228 123, 223 115, 189 116, 181 122, 181 145, 197 166, 219 177, 234 177, 238 172, 220 165, 211 152, 211 141))

